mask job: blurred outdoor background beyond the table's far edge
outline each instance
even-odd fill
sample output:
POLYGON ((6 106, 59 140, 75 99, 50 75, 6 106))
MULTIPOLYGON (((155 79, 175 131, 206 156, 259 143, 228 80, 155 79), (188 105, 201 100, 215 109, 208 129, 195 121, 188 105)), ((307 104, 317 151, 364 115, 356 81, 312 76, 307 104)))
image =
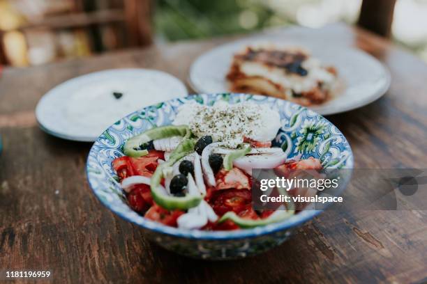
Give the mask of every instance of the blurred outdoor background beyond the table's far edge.
MULTIPOLYGON (((391 3, 391 29, 378 33, 427 61, 427 0, 373 1, 391 3)), ((0 65, 40 65, 273 26, 354 24, 361 6, 361 0, 0 0, 0 65)), ((375 22, 376 11, 368 14, 361 26, 375 22)))

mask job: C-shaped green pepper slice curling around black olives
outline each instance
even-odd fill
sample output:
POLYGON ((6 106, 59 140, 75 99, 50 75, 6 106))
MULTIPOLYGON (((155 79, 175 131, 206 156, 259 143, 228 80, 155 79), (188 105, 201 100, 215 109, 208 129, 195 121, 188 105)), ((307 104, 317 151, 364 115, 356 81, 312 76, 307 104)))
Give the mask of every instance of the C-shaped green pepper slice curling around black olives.
POLYGON ((160 181, 163 178, 163 168, 172 166, 176 161, 185 157, 190 152, 194 151, 195 141, 194 139, 186 139, 182 141, 178 147, 171 153, 170 159, 165 163, 159 165, 156 168, 156 171, 153 173, 151 177, 151 196, 153 196, 153 200, 156 201, 158 205, 167 209, 167 210, 187 210, 192 207, 196 207, 202 202, 204 196, 202 195, 194 195, 187 194, 184 197, 176 197, 166 195, 159 189, 160 181))

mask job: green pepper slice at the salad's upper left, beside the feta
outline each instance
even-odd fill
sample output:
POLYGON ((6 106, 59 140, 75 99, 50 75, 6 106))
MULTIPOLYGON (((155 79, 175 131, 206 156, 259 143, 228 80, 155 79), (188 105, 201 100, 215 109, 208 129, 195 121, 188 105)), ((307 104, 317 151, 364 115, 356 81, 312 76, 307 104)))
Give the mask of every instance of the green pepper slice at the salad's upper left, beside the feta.
POLYGON ((190 137, 190 129, 186 125, 167 125, 148 129, 146 132, 133 136, 126 141, 123 152, 129 157, 142 157, 148 154, 147 150, 140 150, 140 146, 151 140, 162 139, 172 136, 190 137))

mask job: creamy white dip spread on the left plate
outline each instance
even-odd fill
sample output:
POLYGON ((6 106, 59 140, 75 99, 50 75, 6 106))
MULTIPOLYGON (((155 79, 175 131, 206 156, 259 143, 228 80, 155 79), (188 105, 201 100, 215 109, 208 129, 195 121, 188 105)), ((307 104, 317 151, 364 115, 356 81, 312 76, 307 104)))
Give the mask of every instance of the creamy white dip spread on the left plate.
POLYGON ((64 114, 76 132, 101 134, 132 111, 170 97, 170 88, 147 84, 147 80, 120 77, 84 84, 69 94, 69 100, 63 107, 64 114), (117 99, 114 92, 123 95, 117 99))

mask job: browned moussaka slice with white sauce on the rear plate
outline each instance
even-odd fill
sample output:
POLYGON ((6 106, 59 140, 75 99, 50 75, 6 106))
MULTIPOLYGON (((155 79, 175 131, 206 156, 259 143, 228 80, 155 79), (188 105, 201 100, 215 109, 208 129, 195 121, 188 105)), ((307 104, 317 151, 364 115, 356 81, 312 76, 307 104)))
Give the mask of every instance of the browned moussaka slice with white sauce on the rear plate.
POLYGON ((233 92, 270 95, 310 106, 329 99, 337 72, 299 47, 246 47, 234 54, 227 80, 233 92))

